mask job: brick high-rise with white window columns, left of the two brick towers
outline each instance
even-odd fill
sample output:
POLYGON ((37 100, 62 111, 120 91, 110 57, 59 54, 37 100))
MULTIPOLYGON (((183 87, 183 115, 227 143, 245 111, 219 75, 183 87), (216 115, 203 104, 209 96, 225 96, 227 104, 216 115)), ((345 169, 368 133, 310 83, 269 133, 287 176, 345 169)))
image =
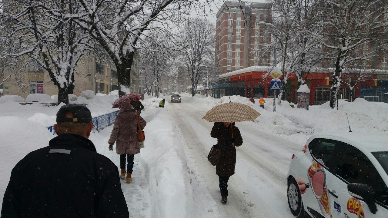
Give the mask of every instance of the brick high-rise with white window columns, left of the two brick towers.
POLYGON ((238 2, 223 3, 216 16, 215 45, 215 64, 221 73, 270 65, 270 54, 262 55, 260 50, 271 43, 271 35, 259 22, 272 20, 271 8, 270 3, 242 7, 238 2))

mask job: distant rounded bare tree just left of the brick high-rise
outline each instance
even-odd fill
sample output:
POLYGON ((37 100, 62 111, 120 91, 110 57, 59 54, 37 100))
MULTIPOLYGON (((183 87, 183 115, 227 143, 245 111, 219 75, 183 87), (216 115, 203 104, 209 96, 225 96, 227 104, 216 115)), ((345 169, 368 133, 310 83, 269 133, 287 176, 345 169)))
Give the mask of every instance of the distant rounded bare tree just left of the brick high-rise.
POLYGON ((179 65, 187 67, 194 96, 203 77, 204 66, 214 62, 215 25, 208 20, 194 18, 185 25, 180 40, 179 65))

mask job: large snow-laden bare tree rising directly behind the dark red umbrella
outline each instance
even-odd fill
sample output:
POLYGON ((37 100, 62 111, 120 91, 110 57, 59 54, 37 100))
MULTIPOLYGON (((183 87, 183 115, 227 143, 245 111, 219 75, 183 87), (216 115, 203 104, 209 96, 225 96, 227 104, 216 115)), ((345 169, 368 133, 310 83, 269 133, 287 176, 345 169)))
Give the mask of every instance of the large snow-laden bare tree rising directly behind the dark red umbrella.
POLYGON ((119 95, 130 85, 133 56, 147 31, 159 29, 171 37, 193 8, 203 8, 208 0, 80 0, 86 15, 80 25, 106 50, 116 66, 119 95), (154 25, 152 25, 154 24, 154 25))

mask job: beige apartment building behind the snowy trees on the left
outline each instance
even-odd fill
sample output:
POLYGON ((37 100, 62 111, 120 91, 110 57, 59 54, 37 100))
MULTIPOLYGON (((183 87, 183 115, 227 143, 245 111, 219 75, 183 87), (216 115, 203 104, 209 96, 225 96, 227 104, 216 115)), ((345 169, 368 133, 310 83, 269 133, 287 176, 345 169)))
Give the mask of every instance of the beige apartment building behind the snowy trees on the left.
MULTIPOLYGON (((132 64, 130 91, 131 93, 140 93, 139 80, 136 77, 139 74, 137 67, 138 55, 132 64)), ((4 71, 4 76, 9 72, 4 71)), ((32 62, 24 73, 23 77, 18 79, 11 77, 3 82, 3 95, 20 95, 26 98, 31 93, 45 93, 48 95, 57 95, 58 88, 50 80, 47 71, 43 71, 37 63, 32 62), (17 85, 19 84, 19 85, 17 85), (20 85, 24 84, 24 85, 20 85)), ((77 65, 77 71, 74 74, 74 95, 81 95, 84 90, 93 90, 95 93, 108 94, 111 90, 118 89, 118 78, 116 68, 99 62, 94 57, 86 58, 77 65)))

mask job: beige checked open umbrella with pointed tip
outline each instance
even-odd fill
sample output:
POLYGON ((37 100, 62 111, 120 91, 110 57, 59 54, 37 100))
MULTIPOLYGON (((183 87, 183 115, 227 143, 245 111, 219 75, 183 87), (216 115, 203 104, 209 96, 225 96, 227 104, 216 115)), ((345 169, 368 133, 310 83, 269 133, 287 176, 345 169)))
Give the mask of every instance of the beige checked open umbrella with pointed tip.
POLYGON ((261 114, 246 104, 229 102, 213 107, 202 119, 209 122, 235 123, 241 121, 255 121, 261 114))

